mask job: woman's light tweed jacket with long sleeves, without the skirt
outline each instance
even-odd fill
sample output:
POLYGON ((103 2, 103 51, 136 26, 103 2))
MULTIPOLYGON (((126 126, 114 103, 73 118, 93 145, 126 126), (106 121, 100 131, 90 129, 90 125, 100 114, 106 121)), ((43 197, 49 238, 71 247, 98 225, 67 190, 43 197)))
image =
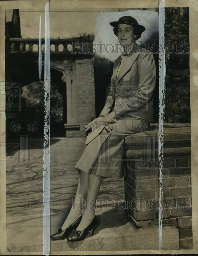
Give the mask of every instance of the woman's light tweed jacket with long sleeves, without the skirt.
MULTIPOLYGON (((134 44, 117 76, 120 62, 121 56, 114 62, 109 93, 100 116, 105 116, 105 123, 129 116, 152 122, 156 75, 153 54, 134 44)), ((100 132, 105 127, 102 120, 100 132)), ((91 132, 85 144, 88 145, 98 134, 91 132)))

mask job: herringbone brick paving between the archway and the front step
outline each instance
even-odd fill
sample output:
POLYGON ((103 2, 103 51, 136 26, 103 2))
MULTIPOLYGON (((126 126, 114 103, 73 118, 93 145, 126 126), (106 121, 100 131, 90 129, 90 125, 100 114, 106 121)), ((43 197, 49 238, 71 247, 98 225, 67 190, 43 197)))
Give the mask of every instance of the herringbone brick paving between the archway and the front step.
MULTIPOLYGON (((85 138, 51 138, 50 207, 51 213, 71 207, 79 174, 75 164, 83 153, 85 138)), ((43 207, 43 139, 31 140, 30 162, 38 168, 10 168, 18 162, 16 148, 8 148, 6 161, 7 216, 41 214, 43 207), (8 158, 9 159, 9 158, 8 158)), ((98 200, 124 200, 124 181, 103 178, 98 200)))

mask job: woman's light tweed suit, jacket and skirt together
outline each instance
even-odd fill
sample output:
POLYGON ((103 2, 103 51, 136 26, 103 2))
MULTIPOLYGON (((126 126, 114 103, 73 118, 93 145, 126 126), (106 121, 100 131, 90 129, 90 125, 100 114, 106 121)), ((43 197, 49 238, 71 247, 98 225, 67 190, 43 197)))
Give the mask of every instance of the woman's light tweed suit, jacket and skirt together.
POLYGON ((87 146, 75 166, 87 173, 112 178, 126 175, 125 137, 140 132, 138 125, 144 122, 149 125, 153 120, 156 74, 153 54, 135 44, 117 76, 120 62, 121 57, 114 62, 109 93, 100 114, 103 118, 96 121, 96 128, 89 133, 87 146))

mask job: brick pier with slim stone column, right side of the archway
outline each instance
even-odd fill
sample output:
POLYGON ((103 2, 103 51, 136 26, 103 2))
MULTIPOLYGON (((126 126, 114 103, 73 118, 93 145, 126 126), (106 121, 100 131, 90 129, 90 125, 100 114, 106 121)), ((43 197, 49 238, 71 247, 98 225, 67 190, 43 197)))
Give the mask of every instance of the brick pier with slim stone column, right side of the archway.
POLYGON ((64 60, 59 57, 53 59, 52 64, 64 70, 62 80, 67 86, 66 137, 86 137, 84 125, 95 117, 93 56, 72 55, 64 60))

